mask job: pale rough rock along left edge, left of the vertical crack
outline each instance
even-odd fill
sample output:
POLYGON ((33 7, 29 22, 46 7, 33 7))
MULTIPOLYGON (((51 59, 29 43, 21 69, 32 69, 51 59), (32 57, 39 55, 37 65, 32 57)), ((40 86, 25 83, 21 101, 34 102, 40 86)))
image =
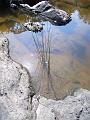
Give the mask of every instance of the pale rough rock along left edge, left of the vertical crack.
POLYGON ((0 120, 31 120, 34 94, 25 68, 9 56, 8 40, 0 38, 0 120))

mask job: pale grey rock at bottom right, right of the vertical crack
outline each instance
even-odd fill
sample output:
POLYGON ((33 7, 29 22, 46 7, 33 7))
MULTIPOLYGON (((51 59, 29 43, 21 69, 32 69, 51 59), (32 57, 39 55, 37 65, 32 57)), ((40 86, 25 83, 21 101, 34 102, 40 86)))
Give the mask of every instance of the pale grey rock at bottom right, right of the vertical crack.
MULTIPOLYGON (((36 97, 37 98, 37 97, 36 97)), ((36 120, 90 120, 90 92, 80 89, 64 100, 33 98, 36 120)))

